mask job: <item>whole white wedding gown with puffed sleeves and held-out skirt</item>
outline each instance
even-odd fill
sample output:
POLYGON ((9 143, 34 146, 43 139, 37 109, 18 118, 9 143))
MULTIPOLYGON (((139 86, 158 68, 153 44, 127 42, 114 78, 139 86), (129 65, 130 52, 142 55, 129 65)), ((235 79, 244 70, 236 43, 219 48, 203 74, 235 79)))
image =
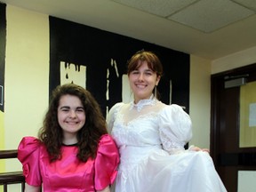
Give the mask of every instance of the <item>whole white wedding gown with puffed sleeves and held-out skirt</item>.
POLYGON ((184 149, 192 130, 180 106, 152 98, 137 105, 117 103, 107 122, 121 156, 113 191, 227 191, 207 152, 184 149))

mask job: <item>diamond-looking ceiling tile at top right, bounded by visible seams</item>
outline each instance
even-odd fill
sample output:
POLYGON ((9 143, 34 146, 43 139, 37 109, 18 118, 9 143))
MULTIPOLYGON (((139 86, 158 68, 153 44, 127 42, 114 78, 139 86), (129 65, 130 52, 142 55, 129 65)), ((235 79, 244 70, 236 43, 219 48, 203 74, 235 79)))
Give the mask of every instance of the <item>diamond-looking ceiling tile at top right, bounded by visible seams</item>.
POLYGON ((209 33, 254 13, 229 0, 201 0, 174 13, 168 19, 209 33))

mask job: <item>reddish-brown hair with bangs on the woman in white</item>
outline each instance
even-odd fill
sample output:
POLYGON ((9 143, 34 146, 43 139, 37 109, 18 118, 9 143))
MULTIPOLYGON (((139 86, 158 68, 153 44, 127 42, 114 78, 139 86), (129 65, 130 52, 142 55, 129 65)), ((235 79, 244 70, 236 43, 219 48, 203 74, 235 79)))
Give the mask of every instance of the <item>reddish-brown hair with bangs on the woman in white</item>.
MULTIPOLYGON (((140 68, 142 62, 146 61, 148 63, 148 68, 153 72, 156 72, 156 76, 163 76, 163 65, 159 58, 154 52, 148 52, 141 50, 132 55, 132 58, 127 62, 127 74, 128 76, 133 70, 140 68)), ((156 89, 156 88, 155 88, 156 89)), ((153 90, 154 92, 154 90, 153 90)), ((156 98, 160 98, 159 92, 156 93, 156 98)))

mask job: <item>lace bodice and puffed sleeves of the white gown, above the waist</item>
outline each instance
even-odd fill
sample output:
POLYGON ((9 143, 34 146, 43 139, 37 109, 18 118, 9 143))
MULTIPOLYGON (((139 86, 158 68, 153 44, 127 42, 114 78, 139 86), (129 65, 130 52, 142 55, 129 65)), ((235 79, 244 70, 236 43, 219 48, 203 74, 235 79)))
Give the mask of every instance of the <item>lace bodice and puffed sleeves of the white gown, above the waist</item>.
POLYGON ((184 149, 192 137, 188 114, 178 105, 167 106, 156 99, 140 100, 137 105, 117 103, 110 110, 108 128, 119 147, 163 144, 170 153, 184 149))

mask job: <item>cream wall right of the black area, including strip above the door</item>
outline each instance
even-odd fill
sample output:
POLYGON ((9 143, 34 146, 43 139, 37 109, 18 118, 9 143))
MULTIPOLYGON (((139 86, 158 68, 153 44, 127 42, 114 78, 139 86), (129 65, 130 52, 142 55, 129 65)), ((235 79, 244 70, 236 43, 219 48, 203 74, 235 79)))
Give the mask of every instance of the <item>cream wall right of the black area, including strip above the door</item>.
POLYGON ((218 60, 204 60, 190 55, 189 115, 193 123, 193 139, 189 145, 210 148, 211 75, 252 63, 256 63, 256 47, 218 60))

